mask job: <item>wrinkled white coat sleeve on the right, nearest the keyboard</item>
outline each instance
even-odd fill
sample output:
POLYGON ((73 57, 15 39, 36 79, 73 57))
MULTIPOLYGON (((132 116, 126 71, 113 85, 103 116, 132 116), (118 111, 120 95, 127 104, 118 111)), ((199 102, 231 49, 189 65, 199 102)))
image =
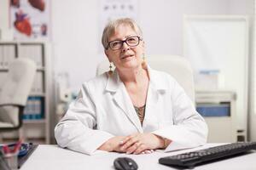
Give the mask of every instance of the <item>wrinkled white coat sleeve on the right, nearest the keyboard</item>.
POLYGON ((192 101, 176 81, 172 83, 172 87, 173 125, 156 130, 154 133, 172 140, 166 151, 181 150, 206 144, 207 123, 195 111, 192 101))

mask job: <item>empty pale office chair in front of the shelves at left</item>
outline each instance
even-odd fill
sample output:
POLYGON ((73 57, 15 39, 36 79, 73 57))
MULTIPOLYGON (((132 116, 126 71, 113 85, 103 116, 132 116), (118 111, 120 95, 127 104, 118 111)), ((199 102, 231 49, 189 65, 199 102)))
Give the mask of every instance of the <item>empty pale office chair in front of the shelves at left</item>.
POLYGON ((31 91, 36 64, 31 59, 15 59, 0 93, 0 132, 15 130, 22 125, 22 114, 31 91))

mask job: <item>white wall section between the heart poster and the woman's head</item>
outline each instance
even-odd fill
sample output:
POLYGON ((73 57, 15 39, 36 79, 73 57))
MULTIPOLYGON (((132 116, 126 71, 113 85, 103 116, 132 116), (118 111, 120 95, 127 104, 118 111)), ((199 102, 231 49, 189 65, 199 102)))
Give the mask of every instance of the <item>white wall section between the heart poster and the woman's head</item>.
POLYGON ((96 1, 52 1, 52 39, 55 71, 67 71, 71 86, 92 77, 97 59, 96 1))

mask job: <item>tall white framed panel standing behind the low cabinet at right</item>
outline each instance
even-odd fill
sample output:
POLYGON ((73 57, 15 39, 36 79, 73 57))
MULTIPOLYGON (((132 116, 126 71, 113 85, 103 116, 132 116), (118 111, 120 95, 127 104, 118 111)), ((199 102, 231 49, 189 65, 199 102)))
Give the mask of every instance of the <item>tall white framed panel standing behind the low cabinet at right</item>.
POLYGON ((222 81, 218 89, 236 92, 236 128, 245 140, 248 120, 248 71, 251 68, 248 58, 251 38, 249 21, 247 15, 229 14, 187 15, 183 22, 184 57, 189 59, 194 72, 219 71, 222 81))

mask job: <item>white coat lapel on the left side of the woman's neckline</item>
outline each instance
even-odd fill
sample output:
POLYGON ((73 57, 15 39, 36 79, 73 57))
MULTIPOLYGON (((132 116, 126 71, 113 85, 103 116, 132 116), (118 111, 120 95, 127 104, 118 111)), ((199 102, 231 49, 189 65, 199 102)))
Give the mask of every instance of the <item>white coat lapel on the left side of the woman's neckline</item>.
POLYGON ((129 94, 125 89, 125 85, 119 79, 117 71, 114 71, 113 77, 108 77, 106 89, 113 92, 114 102, 125 112, 131 123, 137 127, 138 132, 143 133, 143 127, 132 105, 129 94))

